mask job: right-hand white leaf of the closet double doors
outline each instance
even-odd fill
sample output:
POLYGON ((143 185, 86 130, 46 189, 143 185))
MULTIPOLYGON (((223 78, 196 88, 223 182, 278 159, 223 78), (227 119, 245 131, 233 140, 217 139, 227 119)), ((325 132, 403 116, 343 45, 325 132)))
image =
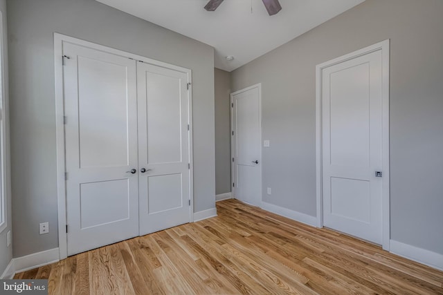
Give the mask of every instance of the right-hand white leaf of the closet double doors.
POLYGON ((144 235, 190 221, 188 74, 138 62, 137 84, 144 235))

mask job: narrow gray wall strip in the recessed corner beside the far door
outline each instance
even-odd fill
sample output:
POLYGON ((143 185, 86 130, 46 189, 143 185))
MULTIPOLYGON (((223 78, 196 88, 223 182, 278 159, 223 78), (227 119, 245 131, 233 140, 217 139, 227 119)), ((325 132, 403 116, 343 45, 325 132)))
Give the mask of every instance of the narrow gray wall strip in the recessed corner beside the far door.
POLYGON ((230 193, 230 73, 215 68, 215 194, 230 193))

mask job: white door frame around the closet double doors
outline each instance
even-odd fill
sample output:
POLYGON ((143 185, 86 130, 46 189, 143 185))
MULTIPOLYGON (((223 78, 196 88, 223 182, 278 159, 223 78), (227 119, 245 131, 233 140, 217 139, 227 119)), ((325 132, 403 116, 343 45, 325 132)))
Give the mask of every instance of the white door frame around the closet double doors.
POLYGON ((57 150, 57 213, 58 213, 58 243, 60 260, 68 257, 68 244, 66 233, 66 180, 65 180, 65 134, 64 134, 64 81, 63 81, 63 42, 100 50, 114 55, 127 57, 128 59, 135 59, 136 61, 143 61, 147 64, 161 66, 163 68, 170 68, 182 73, 186 73, 188 77, 188 124, 189 124, 189 140, 188 140, 188 158, 190 162, 189 169, 189 222, 194 221, 194 164, 192 155, 192 70, 182 68, 181 66, 174 66, 163 61, 156 61, 141 55, 127 53, 123 50, 102 46, 82 39, 69 37, 60 33, 54 33, 54 70, 55 70, 55 126, 56 126, 56 150, 57 150))

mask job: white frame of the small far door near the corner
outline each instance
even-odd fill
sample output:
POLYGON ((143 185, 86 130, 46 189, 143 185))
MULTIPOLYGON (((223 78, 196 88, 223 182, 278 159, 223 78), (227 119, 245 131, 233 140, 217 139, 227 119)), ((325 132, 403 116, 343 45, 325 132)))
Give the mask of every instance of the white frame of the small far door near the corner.
MULTIPOLYGON (((233 102, 233 96, 237 95, 239 93, 244 93, 246 91, 250 91, 253 88, 258 89, 258 122, 260 127, 260 202, 257 204, 258 207, 262 207, 262 198, 263 198, 263 188, 262 188, 262 177, 263 177, 263 161, 262 161, 262 84, 254 84, 252 86, 243 88, 239 91, 235 91, 233 93, 230 93, 230 155, 231 158, 233 158, 234 155, 234 102, 233 102)), ((233 198, 235 198, 235 186, 233 186, 233 183, 235 183, 235 165, 233 164, 233 161, 230 161, 230 188, 233 198)))

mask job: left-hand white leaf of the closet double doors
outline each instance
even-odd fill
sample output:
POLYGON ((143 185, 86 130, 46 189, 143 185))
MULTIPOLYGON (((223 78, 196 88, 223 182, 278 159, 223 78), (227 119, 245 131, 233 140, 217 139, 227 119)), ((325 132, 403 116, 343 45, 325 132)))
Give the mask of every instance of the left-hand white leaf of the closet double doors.
POLYGON ((73 255, 138 236, 136 61, 69 43, 63 54, 73 255))

